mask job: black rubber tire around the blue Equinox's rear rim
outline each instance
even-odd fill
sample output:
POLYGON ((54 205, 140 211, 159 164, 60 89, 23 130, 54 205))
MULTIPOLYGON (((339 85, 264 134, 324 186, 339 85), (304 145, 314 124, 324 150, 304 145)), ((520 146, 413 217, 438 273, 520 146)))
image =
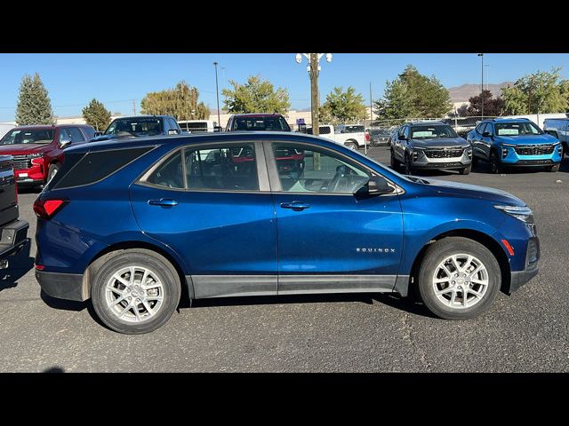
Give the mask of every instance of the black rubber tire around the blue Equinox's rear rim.
MULTIPOLYGON (((172 264, 163 256, 145 248, 132 248, 109 253, 100 262, 92 265, 91 299, 92 306, 100 320, 109 328, 126 335, 149 333, 162 327, 180 303, 180 277, 172 264), (107 305, 106 286, 108 280, 122 268, 139 265, 156 274, 162 282, 163 302, 154 316, 140 322, 119 319, 107 305)), ((147 290, 148 291, 148 290, 147 290)), ((132 293, 134 294, 134 293, 132 293)), ((126 303, 126 300, 124 301, 126 303)), ((157 303, 157 302, 156 302, 157 303)), ((141 304, 139 304, 141 306, 141 304)), ((124 307, 124 306, 123 306, 124 307)), ((120 309, 120 308, 119 308, 120 309)), ((132 308, 134 309, 134 308, 132 308)), ((133 315, 133 311, 128 310, 133 315)), ((139 311, 140 312, 140 311, 139 311)), ((142 312, 144 313, 144 312, 142 312)), ((131 315, 131 316, 132 316, 131 315)))

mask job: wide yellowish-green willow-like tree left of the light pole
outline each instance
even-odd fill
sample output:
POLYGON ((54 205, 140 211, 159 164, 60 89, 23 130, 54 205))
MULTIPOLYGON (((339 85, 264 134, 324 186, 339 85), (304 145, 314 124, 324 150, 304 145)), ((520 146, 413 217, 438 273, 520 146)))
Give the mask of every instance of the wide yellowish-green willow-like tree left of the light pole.
POLYGON ((140 102, 141 114, 172 115, 176 120, 206 120, 210 108, 199 102, 199 91, 181 81, 173 89, 152 91, 140 102))

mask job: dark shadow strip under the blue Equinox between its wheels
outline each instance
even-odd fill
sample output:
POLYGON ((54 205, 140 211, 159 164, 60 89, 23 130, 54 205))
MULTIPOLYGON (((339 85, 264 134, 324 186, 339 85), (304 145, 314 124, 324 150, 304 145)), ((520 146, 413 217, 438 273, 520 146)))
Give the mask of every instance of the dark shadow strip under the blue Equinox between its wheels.
MULTIPOLYGON (((215 297, 211 299, 196 299, 192 301, 191 307, 192 309, 201 309, 215 306, 250 306, 255 304, 327 304, 341 302, 356 302, 361 304, 373 304, 373 302, 377 302, 386 304, 400 311, 423 317, 436 318, 423 304, 417 302, 414 297, 401 297, 397 294, 390 293, 215 297)), ((190 307, 188 300, 180 301, 180 308, 188 307, 190 307)))

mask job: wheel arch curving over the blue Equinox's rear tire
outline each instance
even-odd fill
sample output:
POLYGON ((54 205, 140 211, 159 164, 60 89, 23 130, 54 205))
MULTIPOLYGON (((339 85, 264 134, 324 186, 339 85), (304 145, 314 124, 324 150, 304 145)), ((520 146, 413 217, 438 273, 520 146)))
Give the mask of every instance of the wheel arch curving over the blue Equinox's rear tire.
MULTIPOLYGON (((116 242, 115 244, 111 244, 108 247, 100 250, 95 256, 92 257, 91 262, 85 268, 83 274, 83 295, 84 300, 91 297, 91 274, 100 264, 105 263, 108 259, 108 255, 111 253, 115 253, 116 251, 121 250, 128 250, 132 248, 144 248, 147 250, 151 250, 156 252, 158 255, 163 256, 172 267, 178 273, 178 278, 180 279, 180 287, 181 287, 181 297, 186 301, 189 301, 194 298, 194 284, 191 279, 187 279, 186 275, 180 265, 180 262, 172 256, 172 254, 168 253, 164 248, 160 248, 155 244, 146 242, 146 241, 121 241, 116 242)), ((188 276, 189 277, 189 276, 188 276)))

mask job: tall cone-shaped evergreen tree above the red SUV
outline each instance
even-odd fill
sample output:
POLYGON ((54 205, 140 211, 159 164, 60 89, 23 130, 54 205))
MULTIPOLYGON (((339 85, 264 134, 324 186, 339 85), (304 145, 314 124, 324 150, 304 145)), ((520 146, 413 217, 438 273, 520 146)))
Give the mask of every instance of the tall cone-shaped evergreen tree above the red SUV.
POLYGON ((18 106, 16 106, 16 122, 20 126, 55 122, 52 102, 37 73, 33 77, 24 75, 21 79, 18 106))

